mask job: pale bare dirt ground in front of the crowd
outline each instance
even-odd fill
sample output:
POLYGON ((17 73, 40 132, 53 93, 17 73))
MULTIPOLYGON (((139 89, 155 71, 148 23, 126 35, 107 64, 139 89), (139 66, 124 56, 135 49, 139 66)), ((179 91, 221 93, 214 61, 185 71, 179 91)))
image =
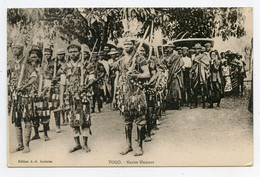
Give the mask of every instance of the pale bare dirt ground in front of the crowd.
MULTIPOLYGON (((92 115, 90 153, 68 153, 74 145, 73 132, 63 126, 55 132, 52 118, 50 141, 31 141, 31 152, 8 153, 9 166, 241 166, 253 164, 253 116, 247 110, 248 98, 224 98, 221 108, 183 107, 168 110, 152 141, 144 143, 144 154, 125 156, 124 123, 118 111, 105 105, 92 115), (20 162, 19 162, 20 161, 20 162)), ((9 148, 17 146, 14 125, 9 126, 9 148)), ((43 137, 43 133, 40 133, 43 137)), ((133 139, 136 129, 133 129, 133 139)), ((82 141, 82 139, 81 139, 82 141)), ((133 141, 133 148, 136 149, 133 141)))

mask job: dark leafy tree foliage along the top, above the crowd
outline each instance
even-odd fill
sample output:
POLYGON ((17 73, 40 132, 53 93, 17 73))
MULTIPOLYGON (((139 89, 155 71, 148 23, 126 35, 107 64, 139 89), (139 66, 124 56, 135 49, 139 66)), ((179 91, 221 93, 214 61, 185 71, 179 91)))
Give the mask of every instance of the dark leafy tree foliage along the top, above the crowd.
MULTIPOLYGON (((245 17, 241 8, 46 8, 8 9, 8 24, 43 22, 57 26, 64 40, 79 40, 93 46, 98 39, 98 48, 108 39, 122 36, 122 19, 137 19, 143 23, 143 35, 147 26, 161 28, 169 40, 187 37, 213 38, 223 40, 230 36, 246 34, 245 17)), ((151 31, 150 31, 151 32, 151 31)))

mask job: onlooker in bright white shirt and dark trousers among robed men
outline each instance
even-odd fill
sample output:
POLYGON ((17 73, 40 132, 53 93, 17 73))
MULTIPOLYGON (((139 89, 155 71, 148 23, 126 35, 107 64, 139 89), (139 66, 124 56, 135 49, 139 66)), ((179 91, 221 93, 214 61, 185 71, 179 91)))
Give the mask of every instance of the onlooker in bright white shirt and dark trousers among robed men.
POLYGON ((184 89, 182 92, 182 101, 187 106, 190 106, 191 88, 190 88, 190 69, 192 67, 192 59, 188 56, 188 47, 182 47, 182 61, 183 61, 183 82, 184 89), (188 100, 186 100, 188 98, 188 100))

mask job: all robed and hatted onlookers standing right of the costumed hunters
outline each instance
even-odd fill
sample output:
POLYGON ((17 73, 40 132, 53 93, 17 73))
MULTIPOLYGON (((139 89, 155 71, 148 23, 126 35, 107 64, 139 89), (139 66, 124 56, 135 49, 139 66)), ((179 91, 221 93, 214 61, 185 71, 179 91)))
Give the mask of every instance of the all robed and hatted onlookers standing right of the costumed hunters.
POLYGON ((232 88, 237 88, 236 92, 242 95, 243 79, 246 77, 245 62, 241 55, 233 57, 229 61, 232 67, 229 68, 226 58, 220 56, 211 43, 204 46, 197 43, 192 48, 176 47, 167 55, 166 60, 170 65, 167 101, 171 107, 181 109, 186 105, 197 108, 200 96, 203 108, 207 102, 209 108, 213 108, 213 103, 217 103, 219 108, 221 98, 232 88))

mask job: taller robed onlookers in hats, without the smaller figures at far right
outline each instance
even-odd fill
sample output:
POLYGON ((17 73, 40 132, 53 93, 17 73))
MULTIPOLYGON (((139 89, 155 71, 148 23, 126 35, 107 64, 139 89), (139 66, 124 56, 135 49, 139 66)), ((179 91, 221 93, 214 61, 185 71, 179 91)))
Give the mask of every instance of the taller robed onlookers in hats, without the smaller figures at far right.
MULTIPOLYGON (((221 90, 219 84, 213 88, 213 82, 221 83, 221 80, 218 73, 220 63, 211 43, 206 43, 205 47, 197 43, 190 49, 186 46, 176 47, 168 58, 168 64, 171 65, 168 102, 172 103, 172 107, 174 109, 181 109, 181 106, 197 108, 199 95, 201 95, 203 108, 206 107, 206 99, 210 103, 209 107, 213 107, 213 100, 217 96, 214 95, 215 91, 221 90)), ((217 99, 217 106, 219 106, 220 98, 217 99)))

